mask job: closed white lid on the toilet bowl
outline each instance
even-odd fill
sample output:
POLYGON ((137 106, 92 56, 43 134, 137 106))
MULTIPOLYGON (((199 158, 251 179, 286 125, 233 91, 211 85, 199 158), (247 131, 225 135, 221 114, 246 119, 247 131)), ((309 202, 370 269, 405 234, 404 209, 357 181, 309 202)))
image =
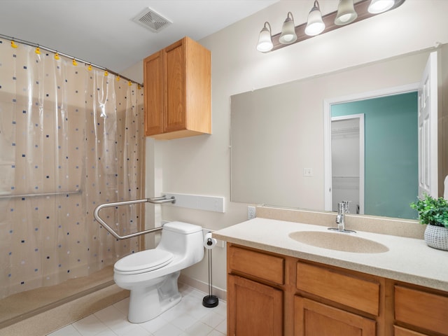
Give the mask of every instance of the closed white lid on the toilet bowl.
POLYGON ((121 273, 138 274, 164 267, 172 259, 173 253, 155 248, 127 255, 118 260, 113 268, 121 273))

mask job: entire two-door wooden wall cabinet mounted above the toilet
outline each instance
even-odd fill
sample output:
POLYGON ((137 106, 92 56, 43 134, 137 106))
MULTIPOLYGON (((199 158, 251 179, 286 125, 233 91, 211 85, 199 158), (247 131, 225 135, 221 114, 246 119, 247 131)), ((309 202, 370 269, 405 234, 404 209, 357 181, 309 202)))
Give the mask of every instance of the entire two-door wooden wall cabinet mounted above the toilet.
POLYGON ((211 134, 211 52, 185 37, 144 59, 145 135, 211 134))

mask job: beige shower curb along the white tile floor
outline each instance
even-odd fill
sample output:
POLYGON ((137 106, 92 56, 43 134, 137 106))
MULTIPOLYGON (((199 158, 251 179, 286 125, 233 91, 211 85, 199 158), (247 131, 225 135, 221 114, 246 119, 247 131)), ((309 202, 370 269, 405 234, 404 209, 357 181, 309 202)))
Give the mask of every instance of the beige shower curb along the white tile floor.
POLYGON ((128 296, 129 290, 124 290, 113 284, 18 323, 8 325, 0 329, 0 336, 45 336, 128 296))

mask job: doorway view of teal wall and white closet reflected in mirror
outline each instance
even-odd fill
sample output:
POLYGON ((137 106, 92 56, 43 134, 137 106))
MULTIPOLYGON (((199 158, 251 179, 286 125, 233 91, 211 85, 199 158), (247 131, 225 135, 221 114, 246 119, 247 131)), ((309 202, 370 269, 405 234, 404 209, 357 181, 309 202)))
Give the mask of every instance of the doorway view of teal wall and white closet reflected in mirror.
POLYGON ((418 93, 330 105, 332 211, 416 218, 418 93))

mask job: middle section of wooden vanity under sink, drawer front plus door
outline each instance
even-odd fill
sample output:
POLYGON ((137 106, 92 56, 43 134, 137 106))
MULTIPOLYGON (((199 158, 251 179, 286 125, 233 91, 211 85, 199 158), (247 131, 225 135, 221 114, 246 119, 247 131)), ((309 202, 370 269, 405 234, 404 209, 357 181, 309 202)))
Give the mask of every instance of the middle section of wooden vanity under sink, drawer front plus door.
POLYGON ((377 279, 302 261, 297 261, 296 274, 301 295, 295 296, 295 336, 377 335, 377 279))

